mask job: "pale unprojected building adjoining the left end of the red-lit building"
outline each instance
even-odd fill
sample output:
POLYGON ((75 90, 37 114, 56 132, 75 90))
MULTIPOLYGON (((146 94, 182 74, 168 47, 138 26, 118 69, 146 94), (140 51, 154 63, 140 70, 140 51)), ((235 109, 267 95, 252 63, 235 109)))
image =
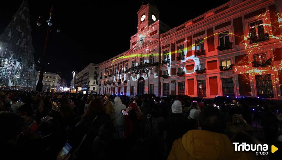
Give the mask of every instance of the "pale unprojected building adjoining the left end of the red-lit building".
POLYGON ((90 63, 82 71, 78 72, 74 79, 74 88, 76 92, 81 93, 97 93, 97 76, 99 64, 90 63))

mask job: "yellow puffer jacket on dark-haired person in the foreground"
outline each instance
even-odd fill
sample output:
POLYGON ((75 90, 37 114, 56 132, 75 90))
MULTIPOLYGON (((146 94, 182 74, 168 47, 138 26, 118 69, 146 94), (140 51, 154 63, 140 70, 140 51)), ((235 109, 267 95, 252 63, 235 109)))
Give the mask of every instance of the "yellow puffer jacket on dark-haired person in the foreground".
POLYGON ((168 160, 246 159, 235 152, 233 144, 224 134, 205 130, 190 130, 174 141, 168 160))

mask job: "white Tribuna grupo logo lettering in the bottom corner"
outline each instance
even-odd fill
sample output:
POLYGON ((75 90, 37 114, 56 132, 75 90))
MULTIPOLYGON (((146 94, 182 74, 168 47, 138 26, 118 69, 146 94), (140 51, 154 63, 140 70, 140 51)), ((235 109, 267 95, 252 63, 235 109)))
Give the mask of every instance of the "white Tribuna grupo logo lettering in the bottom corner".
POLYGON ((232 143, 233 145, 235 145, 235 151, 258 151, 256 152, 256 155, 267 155, 268 152, 265 152, 268 150, 268 145, 264 144, 264 145, 249 145, 249 144, 246 144, 246 143, 232 143), (260 152, 259 152, 260 151, 260 152))

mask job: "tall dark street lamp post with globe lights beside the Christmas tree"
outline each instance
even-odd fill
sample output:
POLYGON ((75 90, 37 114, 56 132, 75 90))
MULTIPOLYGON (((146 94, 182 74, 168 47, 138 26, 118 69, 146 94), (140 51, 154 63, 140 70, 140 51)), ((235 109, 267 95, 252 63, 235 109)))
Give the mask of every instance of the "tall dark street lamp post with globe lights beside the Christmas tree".
MULTIPOLYGON (((43 55, 42 55, 42 63, 41 63, 41 70, 40 70, 40 74, 39 74, 39 78, 38 78, 38 83, 36 85, 36 91, 42 91, 42 87, 43 87, 43 74, 44 74, 44 65, 46 64, 46 50, 47 50, 47 42, 48 42, 48 38, 49 38, 49 34, 51 32, 51 26, 52 26, 52 21, 51 21, 51 17, 52 17, 52 11, 53 11, 53 6, 51 7, 50 10, 50 17, 47 21, 45 21, 43 19, 42 16, 39 16, 38 20, 36 21, 37 26, 41 26, 42 24, 46 23, 47 24, 47 35, 46 35, 46 39, 45 39, 45 45, 44 45, 44 50, 43 50, 43 55), (43 20, 43 21, 42 21, 43 20)), ((57 28, 57 32, 59 33, 61 30, 59 28, 57 28)), ((38 60, 38 63, 40 63, 40 61, 38 60)), ((49 64, 49 63, 47 63, 49 64)))

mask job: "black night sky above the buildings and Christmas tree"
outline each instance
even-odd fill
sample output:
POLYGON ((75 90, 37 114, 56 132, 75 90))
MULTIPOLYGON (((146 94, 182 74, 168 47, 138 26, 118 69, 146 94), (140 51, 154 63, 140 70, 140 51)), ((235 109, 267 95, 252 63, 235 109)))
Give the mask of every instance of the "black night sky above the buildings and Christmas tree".
MULTIPOLYGON (((226 2, 150 1, 160 11, 160 19, 171 28, 226 2)), ((21 3, 21 0, 1 2, 0 34, 21 3)), ((56 33, 56 26, 52 25, 47 48, 50 65, 46 71, 60 71, 61 77, 70 82, 73 70, 80 71, 89 63, 103 62, 129 49, 130 36, 137 32, 136 13, 141 1, 29 0, 35 63, 42 59, 47 28, 43 24, 38 27, 35 21, 39 15, 47 19, 51 6, 61 32, 56 33)))

